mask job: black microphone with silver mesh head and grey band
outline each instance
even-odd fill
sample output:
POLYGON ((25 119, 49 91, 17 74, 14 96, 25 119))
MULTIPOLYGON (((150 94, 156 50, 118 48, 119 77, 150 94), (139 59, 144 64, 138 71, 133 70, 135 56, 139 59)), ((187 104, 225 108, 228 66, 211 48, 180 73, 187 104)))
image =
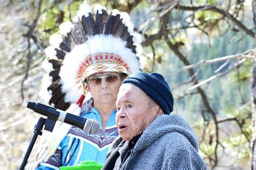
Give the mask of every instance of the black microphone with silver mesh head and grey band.
POLYGON ((89 134, 96 134, 100 130, 99 122, 95 121, 95 119, 72 115, 63 110, 59 110, 41 103, 29 102, 26 107, 44 116, 51 117, 52 115, 57 115, 58 121, 77 126, 77 128, 83 129, 89 134))

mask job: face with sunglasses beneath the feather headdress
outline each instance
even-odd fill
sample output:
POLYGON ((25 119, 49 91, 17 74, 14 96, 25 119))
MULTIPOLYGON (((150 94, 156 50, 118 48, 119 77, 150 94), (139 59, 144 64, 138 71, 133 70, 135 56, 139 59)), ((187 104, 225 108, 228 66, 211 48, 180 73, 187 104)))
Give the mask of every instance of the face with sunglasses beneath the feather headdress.
POLYGON ((116 102, 119 87, 122 84, 120 74, 116 72, 96 73, 87 78, 93 102, 111 103, 116 102), (118 80, 113 82, 113 76, 118 76, 118 80), (100 78, 103 77, 103 78, 100 78))

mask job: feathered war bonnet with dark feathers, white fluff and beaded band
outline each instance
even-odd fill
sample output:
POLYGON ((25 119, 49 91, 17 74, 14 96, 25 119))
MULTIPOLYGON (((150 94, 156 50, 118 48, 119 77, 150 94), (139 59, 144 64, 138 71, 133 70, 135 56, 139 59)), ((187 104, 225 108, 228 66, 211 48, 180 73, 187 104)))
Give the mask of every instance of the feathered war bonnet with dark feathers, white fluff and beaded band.
POLYGON ((89 5, 80 5, 74 24, 59 25, 59 32, 50 37, 51 45, 45 49, 48 59, 44 68, 49 74, 43 83, 49 94, 42 96, 58 109, 82 104, 86 94, 83 82, 92 74, 130 75, 139 70, 142 48, 133 37, 130 16, 116 9, 108 14, 100 5, 95 5, 94 11, 95 16, 89 5))

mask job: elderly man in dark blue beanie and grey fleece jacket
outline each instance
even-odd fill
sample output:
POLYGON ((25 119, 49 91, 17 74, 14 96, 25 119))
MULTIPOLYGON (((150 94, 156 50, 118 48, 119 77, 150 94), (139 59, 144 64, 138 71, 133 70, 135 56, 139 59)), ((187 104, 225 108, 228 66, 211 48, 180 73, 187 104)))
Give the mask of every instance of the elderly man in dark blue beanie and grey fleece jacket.
POLYGON ((164 77, 138 72, 127 77, 117 96, 113 141, 103 169, 207 169, 191 126, 173 110, 164 77))

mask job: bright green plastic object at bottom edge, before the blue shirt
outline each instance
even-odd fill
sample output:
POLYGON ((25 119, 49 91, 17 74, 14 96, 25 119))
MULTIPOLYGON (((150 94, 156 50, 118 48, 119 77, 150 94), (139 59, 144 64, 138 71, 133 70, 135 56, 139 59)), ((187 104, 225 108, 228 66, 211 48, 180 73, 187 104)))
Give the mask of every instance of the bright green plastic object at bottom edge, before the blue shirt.
POLYGON ((60 170, 100 170, 102 169, 103 165, 99 164, 98 162, 95 161, 83 161, 80 162, 77 166, 61 166, 59 167, 60 170))

